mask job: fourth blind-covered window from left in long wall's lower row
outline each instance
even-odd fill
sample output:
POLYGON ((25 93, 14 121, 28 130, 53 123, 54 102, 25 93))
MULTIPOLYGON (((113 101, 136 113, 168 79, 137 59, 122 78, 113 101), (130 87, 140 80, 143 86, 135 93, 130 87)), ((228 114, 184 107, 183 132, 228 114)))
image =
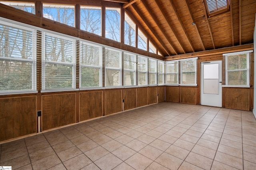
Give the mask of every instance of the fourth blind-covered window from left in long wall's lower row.
POLYGON ((121 86, 121 51, 105 49, 105 86, 121 86))

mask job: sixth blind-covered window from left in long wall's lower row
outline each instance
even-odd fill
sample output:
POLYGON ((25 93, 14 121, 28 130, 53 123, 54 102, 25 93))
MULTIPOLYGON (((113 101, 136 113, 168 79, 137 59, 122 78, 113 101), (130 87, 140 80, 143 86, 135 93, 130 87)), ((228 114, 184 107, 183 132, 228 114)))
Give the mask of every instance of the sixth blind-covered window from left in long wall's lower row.
POLYGON ((148 58, 138 56, 138 85, 148 84, 148 58))

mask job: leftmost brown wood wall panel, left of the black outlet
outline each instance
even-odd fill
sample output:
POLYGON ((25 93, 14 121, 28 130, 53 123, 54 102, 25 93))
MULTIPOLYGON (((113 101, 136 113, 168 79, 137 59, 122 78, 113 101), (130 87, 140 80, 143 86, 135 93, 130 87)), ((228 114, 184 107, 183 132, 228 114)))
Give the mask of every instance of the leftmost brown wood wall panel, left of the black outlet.
POLYGON ((36 96, 0 99, 0 141, 36 133, 36 96))

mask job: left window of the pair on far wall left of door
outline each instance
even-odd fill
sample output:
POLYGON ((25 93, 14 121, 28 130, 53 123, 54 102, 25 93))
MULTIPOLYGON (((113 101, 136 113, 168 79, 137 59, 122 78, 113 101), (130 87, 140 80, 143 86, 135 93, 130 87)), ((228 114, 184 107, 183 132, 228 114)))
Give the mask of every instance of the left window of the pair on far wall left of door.
POLYGON ((166 62, 166 84, 179 84, 179 61, 166 62))

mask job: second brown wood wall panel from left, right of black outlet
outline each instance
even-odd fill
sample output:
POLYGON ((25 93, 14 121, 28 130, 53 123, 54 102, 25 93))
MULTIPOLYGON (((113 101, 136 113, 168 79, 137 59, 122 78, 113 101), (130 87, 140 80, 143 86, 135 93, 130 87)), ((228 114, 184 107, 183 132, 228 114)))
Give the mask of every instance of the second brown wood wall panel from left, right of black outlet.
POLYGON ((42 95, 42 130, 76 123, 76 93, 42 95))

